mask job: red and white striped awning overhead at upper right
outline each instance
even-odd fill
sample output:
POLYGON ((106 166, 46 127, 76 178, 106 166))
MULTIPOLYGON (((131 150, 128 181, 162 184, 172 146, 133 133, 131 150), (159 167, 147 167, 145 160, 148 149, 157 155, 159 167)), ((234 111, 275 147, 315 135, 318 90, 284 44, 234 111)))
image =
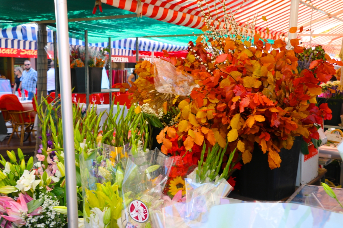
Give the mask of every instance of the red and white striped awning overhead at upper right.
MULTIPOLYGON (((224 18, 222 2, 235 13, 240 25, 249 24, 257 17, 256 31, 263 38, 285 39, 288 36, 290 0, 199 0, 203 8, 209 8, 217 20, 224 18), (267 18, 263 21, 262 16, 267 18), (267 29, 269 28, 269 33, 267 29)), ((197 0, 102 0, 103 3, 128 10, 159 21, 191 28, 204 26, 203 16, 197 0)), ((323 45, 327 51, 338 54, 343 36, 343 1, 342 0, 299 0, 298 28, 304 31, 299 36, 304 44, 323 45), (321 34, 330 35, 321 35, 321 34), (319 34, 319 35, 318 35, 319 34)))

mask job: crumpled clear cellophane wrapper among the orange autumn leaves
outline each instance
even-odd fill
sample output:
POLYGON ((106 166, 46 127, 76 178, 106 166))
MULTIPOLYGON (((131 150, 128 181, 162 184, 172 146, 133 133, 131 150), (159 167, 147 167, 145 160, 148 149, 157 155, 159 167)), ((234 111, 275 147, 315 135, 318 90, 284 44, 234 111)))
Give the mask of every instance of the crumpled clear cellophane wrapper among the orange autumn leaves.
POLYGON ((154 83, 157 92, 188 96, 196 87, 197 84, 190 73, 182 71, 160 58, 155 58, 154 64, 154 83))

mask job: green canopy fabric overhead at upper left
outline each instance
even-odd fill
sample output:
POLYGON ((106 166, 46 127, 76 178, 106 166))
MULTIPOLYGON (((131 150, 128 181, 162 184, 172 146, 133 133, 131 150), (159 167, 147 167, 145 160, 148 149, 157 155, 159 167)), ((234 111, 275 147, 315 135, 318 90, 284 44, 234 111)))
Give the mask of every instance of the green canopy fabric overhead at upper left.
MULTIPOLYGON (((129 11, 102 4, 103 13, 97 10, 92 14, 95 0, 68 0, 68 18, 100 17, 132 14, 129 11)), ((55 5, 53 0, 15 0, 3 1, 0 4, 0 27, 10 28, 35 21, 54 20, 55 5)), ((56 24, 47 24, 55 30, 56 24)), ((84 30, 88 30, 88 42, 97 43, 123 38, 144 36, 166 36, 202 33, 199 29, 169 24, 148 17, 130 17, 96 21, 69 22, 69 37, 84 40, 84 30)), ((147 38, 175 45, 187 45, 195 41, 195 36, 147 38)))

